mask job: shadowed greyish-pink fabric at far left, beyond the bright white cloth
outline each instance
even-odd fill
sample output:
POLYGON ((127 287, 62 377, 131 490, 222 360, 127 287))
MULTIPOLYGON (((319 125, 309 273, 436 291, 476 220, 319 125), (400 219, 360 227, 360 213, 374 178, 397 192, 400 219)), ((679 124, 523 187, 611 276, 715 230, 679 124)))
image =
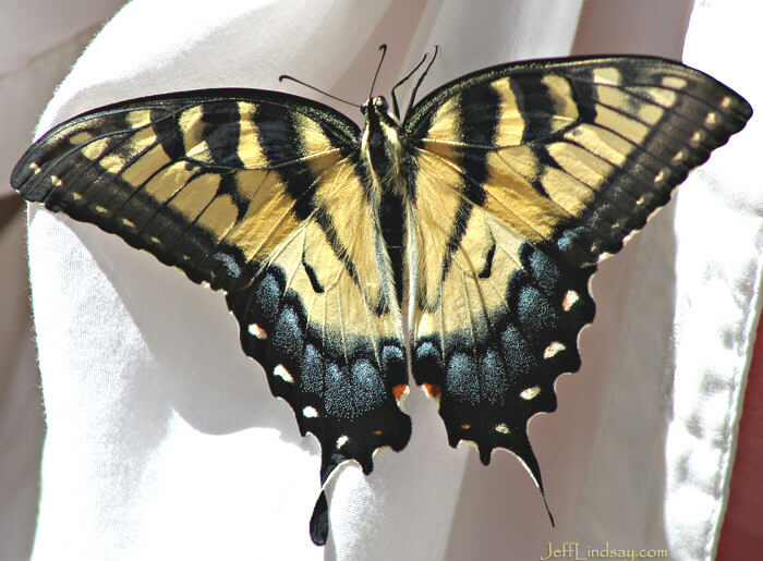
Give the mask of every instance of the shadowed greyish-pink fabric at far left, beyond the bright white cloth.
MULTIPOLYGON (((0 198, 51 90, 121 1, 0 2, 0 198)), ((3 200, 8 203, 8 200, 3 200)), ((26 220, 0 224, 0 559, 29 559, 45 426, 32 332, 26 220)))

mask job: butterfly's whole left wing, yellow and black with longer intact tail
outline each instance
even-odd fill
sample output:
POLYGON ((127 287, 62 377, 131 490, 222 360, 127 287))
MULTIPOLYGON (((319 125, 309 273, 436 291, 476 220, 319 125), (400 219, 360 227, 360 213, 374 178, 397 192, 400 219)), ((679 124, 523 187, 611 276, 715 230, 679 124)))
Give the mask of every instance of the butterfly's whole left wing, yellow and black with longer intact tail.
MULTIPOLYGON (((323 449, 322 483, 402 449, 410 419, 400 310, 358 167, 358 127, 270 92, 132 100, 46 134, 12 184, 227 293, 244 352, 300 431, 323 449)), ((326 539, 322 493, 313 537, 326 539)))

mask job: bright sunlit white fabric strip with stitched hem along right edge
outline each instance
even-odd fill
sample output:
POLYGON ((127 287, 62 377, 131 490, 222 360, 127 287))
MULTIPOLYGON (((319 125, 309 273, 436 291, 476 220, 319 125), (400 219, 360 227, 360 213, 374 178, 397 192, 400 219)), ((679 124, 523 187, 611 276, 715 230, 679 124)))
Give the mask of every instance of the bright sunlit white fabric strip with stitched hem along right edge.
POLYGON ((744 135, 691 178, 679 197, 676 399, 666 453, 668 544, 687 559, 713 559, 728 499, 747 370, 760 319, 763 178, 759 161, 763 7, 703 0, 692 14, 685 57, 748 96, 758 111, 744 135), (744 14, 743 16, 741 14, 744 14), (714 37, 713 41, 708 37, 714 37), (691 196, 689 196, 689 193, 691 196), (713 209, 712 227, 703 219, 713 209), (695 539, 702 536, 702 539, 695 539))

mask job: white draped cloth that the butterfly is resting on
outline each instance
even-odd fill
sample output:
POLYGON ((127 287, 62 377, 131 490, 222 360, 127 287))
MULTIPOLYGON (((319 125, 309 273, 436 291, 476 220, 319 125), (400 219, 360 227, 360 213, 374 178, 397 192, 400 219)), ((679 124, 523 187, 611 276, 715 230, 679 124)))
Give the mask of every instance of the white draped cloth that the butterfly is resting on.
MULTIPOLYGON (((688 62, 754 106, 761 84, 739 58, 754 50, 723 40, 713 52, 702 47, 718 34, 707 22, 742 3, 695 8, 688 62)), ((433 88, 484 65, 568 53, 580 7, 134 0, 80 59, 38 133, 152 93, 282 89, 284 72, 360 100, 385 41, 378 92, 439 44, 433 88)), ((737 37, 752 21, 720 32, 737 37)), ((751 125, 714 155, 678 205, 595 279, 598 313, 582 339, 583 368, 558 382, 559 411, 531 425, 557 528, 511 456, 476 469, 473 451, 449 449, 434 407, 414 392, 411 443, 379 453, 367 478, 354 466, 342 472, 331 489, 329 545, 315 548, 307 520, 317 444, 299 437, 288 405, 241 353, 222 297, 114 236, 33 209, 49 427, 34 558, 532 559, 565 540, 711 558, 760 309, 752 138, 751 125), (460 495, 462 486, 471 492, 460 495)))

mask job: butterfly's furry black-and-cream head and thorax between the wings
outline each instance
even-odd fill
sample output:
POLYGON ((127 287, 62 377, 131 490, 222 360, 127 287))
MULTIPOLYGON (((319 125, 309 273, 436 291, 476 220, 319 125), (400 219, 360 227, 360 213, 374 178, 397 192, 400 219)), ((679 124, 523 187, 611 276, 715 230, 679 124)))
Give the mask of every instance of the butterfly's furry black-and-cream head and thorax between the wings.
POLYGON ((402 145, 400 123, 389 111, 384 97, 370 98, 361 111, 365 115, 365 127, 361 135, 361 157, 365 160, 368 173, 378 195, 393 193, 404 195, 402 173, 402 145))

